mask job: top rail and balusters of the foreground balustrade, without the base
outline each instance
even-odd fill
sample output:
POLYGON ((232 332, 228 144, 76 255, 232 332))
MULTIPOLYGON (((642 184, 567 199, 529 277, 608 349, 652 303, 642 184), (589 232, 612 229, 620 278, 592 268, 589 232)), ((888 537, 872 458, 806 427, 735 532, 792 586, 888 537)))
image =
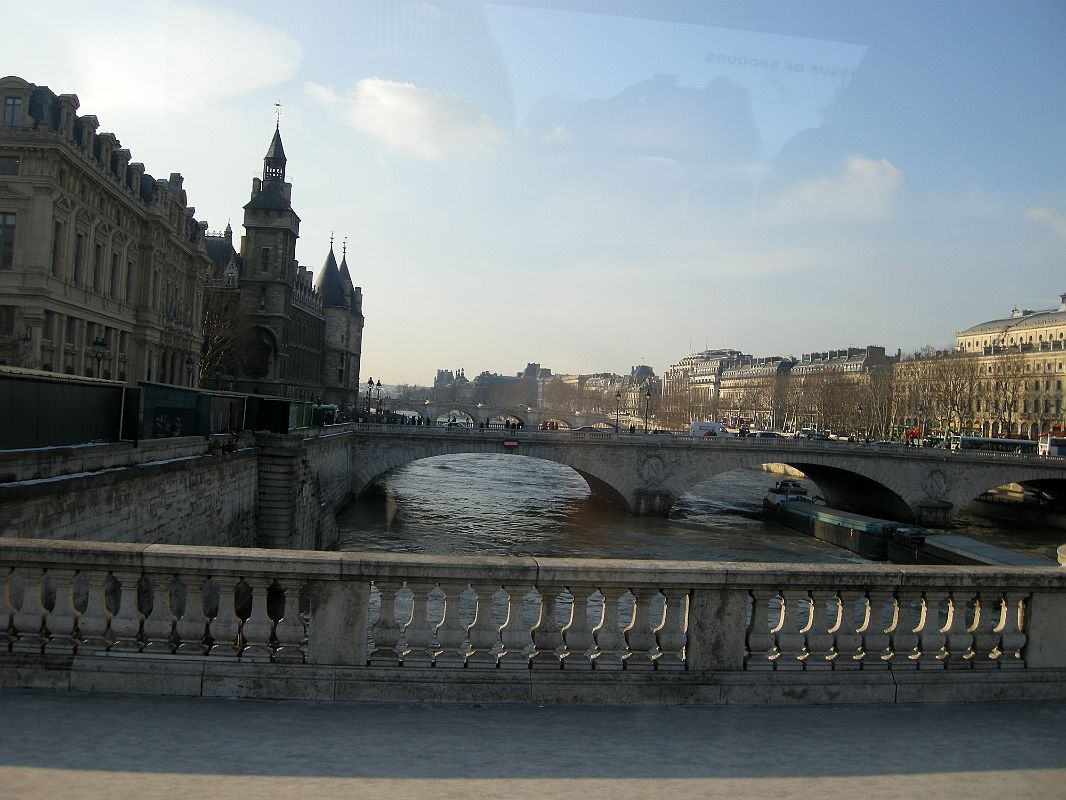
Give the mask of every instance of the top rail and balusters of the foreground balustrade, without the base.
MULTIPOLYGON (((1066 572, 0 539, 0 658, 596 673, 1066 668, 1066 572)), ((602 679, 610 679, 604 675, 602 679)))

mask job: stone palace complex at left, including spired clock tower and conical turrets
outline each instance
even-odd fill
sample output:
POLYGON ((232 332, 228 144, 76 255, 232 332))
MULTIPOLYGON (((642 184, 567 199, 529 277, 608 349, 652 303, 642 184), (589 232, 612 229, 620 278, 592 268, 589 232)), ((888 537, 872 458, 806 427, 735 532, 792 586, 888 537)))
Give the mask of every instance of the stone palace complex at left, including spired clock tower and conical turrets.
POLYGON ((0 103, 0 365, 355 400, 362 293, 332 245, 313 285, 296 261, 279 130, 238 251, 77 95, 6 77, 0 103))

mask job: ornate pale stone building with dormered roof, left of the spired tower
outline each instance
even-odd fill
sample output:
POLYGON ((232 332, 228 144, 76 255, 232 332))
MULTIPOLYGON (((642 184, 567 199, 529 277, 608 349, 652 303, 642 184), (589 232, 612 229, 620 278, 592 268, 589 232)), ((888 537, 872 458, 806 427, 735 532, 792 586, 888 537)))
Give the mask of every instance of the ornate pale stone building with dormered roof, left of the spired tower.
POLYGON ((76 95, 6 77, 0 98, 0 364, 194 384, 210 261, 181 175, 76 95))

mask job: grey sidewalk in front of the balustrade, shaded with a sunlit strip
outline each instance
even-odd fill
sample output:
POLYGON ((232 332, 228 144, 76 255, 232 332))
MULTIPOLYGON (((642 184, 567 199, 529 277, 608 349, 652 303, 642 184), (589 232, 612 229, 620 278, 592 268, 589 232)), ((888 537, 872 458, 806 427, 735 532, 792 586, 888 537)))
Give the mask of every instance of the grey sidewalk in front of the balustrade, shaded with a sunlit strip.
POLYGON ((0 692, 0 798, 1066 797, 1066 702, 470 706, 0 692))

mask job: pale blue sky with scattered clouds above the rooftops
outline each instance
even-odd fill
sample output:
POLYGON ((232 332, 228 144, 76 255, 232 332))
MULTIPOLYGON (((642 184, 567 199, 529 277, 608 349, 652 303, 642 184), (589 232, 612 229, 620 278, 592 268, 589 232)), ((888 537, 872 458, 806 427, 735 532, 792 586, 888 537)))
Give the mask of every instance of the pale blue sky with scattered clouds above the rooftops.
POLYGON ((77 94, 212 230, 279 119, 362 380, 908 352, 1066 292, 1061 2, 0 5, 0 73, 77 94))

